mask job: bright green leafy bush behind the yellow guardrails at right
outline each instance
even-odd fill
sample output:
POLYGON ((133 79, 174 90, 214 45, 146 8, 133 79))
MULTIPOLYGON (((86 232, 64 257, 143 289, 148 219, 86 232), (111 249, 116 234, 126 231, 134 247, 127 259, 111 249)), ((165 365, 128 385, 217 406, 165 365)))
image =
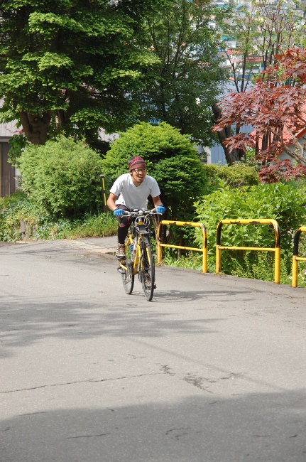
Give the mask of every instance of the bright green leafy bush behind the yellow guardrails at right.
MULTIPOLYGON (((209 271, 215 271, 216 229, 219 221, 224 219, 277 220, 282 255, 289 265, 293 235, 306 223, 305 187, 297 189, 292 183, 258 184, 240 189, 232 189, 224 183, 222 186, 195 203, 198 219, 207 228, 209 271)), ((202 245, 202 236, 198 232, 196 236, 197 244, 202 245)), ((224 225, 221 243, 236 247, 275 247, 275 234, 272 225, 224 225)), ((256 263, 258 253, 248 253, 248 264, 256 263)), ((271 263, 273 257, 272 254, 271 263)), ((236 267, 235 259, 244 265, 242 251, 222 250, 222 272, 231 274, 236 267)))

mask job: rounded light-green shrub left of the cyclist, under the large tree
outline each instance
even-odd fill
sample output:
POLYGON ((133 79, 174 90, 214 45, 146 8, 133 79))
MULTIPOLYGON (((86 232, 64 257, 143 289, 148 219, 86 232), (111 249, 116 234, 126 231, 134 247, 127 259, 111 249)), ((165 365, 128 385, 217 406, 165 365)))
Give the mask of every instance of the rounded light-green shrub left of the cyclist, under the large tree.
POLYGON ((26 146, 21 155, 22 187, 40 208, 77 216, 102 206, 99 154, 64 136, 44 146, 26 146))

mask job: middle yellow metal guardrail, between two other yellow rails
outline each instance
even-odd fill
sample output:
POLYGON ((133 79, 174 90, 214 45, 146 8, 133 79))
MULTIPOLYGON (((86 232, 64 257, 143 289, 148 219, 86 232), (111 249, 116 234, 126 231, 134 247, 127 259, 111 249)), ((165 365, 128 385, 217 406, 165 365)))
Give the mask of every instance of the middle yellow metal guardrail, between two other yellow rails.
MULTIPOLYGON (((306 228, 305 228, 306 230, 306 228)), ((280 284, 280 227, 276 220, 268 219, 254 219, 254 220, 221 220, 217 226, 217 246, 216 246, 216 273, 221 271, 221 250, 258 250, 266 252, 275 253, 275 269, 274 269, 274 282, 280 284), (275 232, 275 247, 266 248, 266 247, 228 247, 221 245, 221 230, 222 225, 253 225, 255 223, 260 223, 261 225, 273 225, 275 232)))

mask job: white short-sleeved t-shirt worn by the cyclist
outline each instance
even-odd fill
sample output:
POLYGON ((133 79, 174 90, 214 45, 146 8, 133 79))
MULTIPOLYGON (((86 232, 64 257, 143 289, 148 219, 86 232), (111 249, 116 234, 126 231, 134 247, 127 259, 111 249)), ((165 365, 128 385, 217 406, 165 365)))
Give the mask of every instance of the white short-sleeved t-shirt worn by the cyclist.
POLYGON ((152 176, 146 175, 141 185, 136 187, 130 173, 119 176, 110 191, 117 196, 116 204, 138 210, 146 210, 149 195, 153 198, 160 195, 158 183, 152 176))

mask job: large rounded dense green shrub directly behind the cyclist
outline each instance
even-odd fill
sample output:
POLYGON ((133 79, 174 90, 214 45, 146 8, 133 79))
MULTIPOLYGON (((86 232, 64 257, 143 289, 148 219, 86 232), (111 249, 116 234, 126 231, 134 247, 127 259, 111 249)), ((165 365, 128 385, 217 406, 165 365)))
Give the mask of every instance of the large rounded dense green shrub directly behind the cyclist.
POLYGON ((203 168, 190 137, 165 122, 134 125, 120 134, 102 161, 108 186, 128 171, 133 156, 143 157, 148 175, 158 181, 168 218, 187 220, 194 201, 204 193, 203 168))

